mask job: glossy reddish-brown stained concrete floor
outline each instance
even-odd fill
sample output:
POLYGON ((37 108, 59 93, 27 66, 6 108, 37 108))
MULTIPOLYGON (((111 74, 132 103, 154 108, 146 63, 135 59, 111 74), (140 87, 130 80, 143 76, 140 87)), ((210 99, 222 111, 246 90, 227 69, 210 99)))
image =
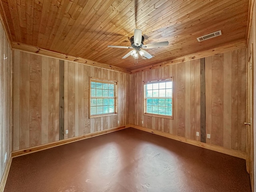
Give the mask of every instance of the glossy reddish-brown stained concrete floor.
POLYGON ((243 159, 133 128, 16 157, 4 192, 250 192, 243 159))

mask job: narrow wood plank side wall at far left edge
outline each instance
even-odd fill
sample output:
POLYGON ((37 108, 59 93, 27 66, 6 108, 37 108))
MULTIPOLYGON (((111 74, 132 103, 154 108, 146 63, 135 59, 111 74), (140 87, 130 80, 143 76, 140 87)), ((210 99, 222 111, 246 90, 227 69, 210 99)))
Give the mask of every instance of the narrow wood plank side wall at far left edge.
POLYGON ((11 153, 11 70, 11 49, 0 23, 0 180, 11 153))

